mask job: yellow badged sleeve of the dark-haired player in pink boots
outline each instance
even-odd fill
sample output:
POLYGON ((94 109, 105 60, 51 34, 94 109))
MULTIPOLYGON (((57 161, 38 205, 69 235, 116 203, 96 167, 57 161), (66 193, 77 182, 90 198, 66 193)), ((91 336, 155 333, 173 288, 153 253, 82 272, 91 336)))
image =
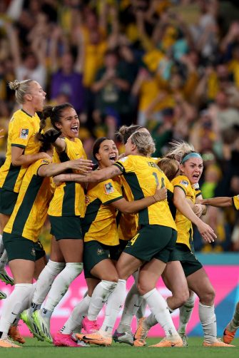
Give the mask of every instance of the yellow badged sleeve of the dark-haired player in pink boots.
POLYGON ((99 183, 99 185, 101 188, 98 190, 98 198, 103 205, 123 198, 121 187, 116 181, 109 179, 99 183))

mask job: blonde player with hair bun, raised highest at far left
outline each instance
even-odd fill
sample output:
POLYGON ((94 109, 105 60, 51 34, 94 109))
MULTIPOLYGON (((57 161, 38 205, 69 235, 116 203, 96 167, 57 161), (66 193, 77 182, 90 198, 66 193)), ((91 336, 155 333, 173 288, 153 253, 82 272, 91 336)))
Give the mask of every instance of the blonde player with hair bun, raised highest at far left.
MULTIPOLYGON (((27 167, 36 160, 49 159, 46 153, 39 153, 40 143, 34 139, 40 123, 36 111, 42 111, 46 92, 31 79, 21 82, 15 80, 9 83, 9 87, 15 91, 16 102, 21 109, 14 113, 9 122, 6 160, 0 168, 0 256, 4 252, 2 232, 14 210, 27 167)), ((0 279, 13 285, 13 280, 4 270, 6 262, 7 257, 4 257, 0 265, 0 279)))

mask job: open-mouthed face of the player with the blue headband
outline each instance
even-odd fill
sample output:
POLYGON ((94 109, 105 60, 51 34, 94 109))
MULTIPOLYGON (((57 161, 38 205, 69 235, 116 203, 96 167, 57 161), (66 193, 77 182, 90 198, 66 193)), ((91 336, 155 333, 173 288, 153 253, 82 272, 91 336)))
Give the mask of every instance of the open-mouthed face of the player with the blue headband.
POLYGON ((182 165, 180 170, 185 175, 191 184, 198 183, 200 176, 203 173, 203 159, 202 158, 189 158, 182 165))

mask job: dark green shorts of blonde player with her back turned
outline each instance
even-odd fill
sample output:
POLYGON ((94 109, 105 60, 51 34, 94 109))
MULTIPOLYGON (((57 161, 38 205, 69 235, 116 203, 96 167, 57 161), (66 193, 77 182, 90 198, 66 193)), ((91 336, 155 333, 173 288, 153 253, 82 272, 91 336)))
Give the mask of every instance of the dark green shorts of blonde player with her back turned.
POLYGON ((153 258, 168 262, 175 247, 177 232, 162 225, 143 225, 135 237, 128 241, 123 252, 149 262, 153 258))

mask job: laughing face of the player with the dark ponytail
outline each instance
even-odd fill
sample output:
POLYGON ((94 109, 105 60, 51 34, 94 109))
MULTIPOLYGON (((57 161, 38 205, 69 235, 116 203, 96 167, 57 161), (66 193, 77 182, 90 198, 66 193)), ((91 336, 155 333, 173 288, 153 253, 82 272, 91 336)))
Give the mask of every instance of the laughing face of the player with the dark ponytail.
POLYGON ((78 138, 80 122, 74 108, 68 107, 61 112, 61 119, 56 123, 57 128, 68 139, 78 138))

